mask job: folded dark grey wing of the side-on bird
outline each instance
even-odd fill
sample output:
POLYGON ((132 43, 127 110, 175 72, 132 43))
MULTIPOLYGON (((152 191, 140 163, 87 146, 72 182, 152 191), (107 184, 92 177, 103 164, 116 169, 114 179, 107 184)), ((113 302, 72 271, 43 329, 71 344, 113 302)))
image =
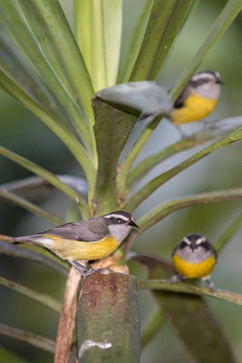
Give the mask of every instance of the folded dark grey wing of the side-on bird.
POLYGON ((97 241, 109 235, 106 224, 96 218, 88 221, 74 221, 38 234, 51 234, 68 240, 97 241))

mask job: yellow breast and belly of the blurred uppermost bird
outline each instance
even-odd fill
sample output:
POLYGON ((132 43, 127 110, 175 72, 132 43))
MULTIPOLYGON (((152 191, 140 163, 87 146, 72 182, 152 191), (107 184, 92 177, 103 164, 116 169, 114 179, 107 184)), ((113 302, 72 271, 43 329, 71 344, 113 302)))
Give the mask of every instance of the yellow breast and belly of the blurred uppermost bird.
POLYGON ((173 123, 192 123, 208 116, 218 103, 218 98, 210 99, 199 94, 190 94, 184 105, 175 108, 169 115, 173 123))

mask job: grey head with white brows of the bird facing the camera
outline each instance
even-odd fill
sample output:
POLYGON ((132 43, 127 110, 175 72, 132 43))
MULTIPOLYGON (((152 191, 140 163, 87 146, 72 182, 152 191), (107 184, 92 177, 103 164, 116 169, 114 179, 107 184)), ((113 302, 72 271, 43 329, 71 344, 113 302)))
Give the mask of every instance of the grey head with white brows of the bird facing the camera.
POLYGON ((206 237, 198 233, 185 236, 179 242, 172 255, 174 253, 178 253, 183 260, 188 260, 189 262, 201 262, 208 259, 211 254, 217 259, 217 252, 211 243, 208 242, 206 237))

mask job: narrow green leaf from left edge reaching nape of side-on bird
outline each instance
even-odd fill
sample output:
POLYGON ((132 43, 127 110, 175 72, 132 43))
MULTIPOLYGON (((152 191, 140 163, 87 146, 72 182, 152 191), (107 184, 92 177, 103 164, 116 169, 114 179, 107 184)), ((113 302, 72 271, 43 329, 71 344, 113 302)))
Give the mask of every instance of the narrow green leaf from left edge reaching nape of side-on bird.
POLYGON ((53 175, 52 172, 46 171, 41 166, 35 164, 34 162, 30 162, 29 160, 16 154, 15 152, 10 152, 3 146, 0 146, 0 154, 4 155, 6 158, 12 160, 13 162, 17 162, 25 169, 29 170, 30 172, 34 172, 34 174, 37 174, 40 177, 44 178, 44 180, 46 180, 47 182, 50 182, 55 188, 63 191, 63 193, 71 198, 72 201, 74 201, 75 204, 80 208, 83 214, 83 218, 89 215, 86 201, 82 199, 81 195, 78 192, 73 191, 71 187, 58 179, 55 175, 53 175))

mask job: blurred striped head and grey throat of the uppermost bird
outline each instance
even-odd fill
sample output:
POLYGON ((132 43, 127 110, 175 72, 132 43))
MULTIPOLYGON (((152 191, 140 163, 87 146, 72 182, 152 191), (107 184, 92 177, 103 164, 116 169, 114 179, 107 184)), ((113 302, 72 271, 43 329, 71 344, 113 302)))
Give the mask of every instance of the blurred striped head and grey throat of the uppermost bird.
POLYGON ((206 98, 218 98, 220 94, 221 81, 220 74, 214 71, 203 71, 194 74, 189 80, 189 88, 191 93, 198 93, 206 98))

